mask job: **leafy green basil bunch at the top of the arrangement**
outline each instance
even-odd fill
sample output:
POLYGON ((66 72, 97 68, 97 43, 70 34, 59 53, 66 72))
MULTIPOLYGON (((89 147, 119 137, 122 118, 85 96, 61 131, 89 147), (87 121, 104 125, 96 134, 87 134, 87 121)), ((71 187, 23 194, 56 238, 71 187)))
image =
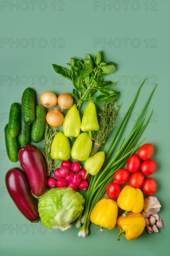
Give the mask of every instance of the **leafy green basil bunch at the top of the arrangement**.
POLYGON ((72 81, 73 89, 72 96, 78 101, 78 109, 84 101, 93 100, 101 103, 103 101, 116 101, 118 93, 115 93, 108 87, 114 86, 117 82, 103 81, 102 76, 111 74, 116 71, 114 62, 102 62, 101 51, 93 58, 89 54, 85 54, 85 61, 80 61, 76 58, 71 58, 67 67, 52 64, 54 70, 72 81), (98 96, 93 95, 98 92, 98 96))

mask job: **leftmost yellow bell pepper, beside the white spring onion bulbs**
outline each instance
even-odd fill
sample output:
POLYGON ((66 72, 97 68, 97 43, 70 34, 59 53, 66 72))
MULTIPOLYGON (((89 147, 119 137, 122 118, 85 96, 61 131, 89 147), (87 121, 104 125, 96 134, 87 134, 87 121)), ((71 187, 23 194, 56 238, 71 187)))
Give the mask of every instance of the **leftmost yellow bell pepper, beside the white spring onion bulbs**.
POLYGON ((92 209, 90 220, 92 223, 99 225, 102 231, 106 229, 114 229, 118 216, 118 205, 115 201, 103 198, 97 202, 92 209))

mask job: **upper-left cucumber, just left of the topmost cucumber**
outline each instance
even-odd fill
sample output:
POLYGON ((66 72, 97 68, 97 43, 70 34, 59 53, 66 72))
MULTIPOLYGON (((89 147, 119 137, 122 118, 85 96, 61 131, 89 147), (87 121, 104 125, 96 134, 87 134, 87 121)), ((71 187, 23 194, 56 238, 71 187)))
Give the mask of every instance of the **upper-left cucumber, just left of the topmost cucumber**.
POLYGON ((8 132, 11 137, 16 137, 20 129, 20 104, 14 102, 9 111, 8 132))

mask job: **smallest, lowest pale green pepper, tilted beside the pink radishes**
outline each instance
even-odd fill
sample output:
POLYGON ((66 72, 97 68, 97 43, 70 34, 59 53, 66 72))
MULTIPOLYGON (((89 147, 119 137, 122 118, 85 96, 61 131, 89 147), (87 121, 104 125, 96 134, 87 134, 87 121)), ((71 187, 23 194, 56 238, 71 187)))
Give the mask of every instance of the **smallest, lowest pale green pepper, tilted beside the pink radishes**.
POLYGON ((96 175, 100 168, 102 167, 103 163, 105 161, 105 152, 100 151, 96 153, 95 155, 92 155, 85 161, 85 170, 86 170, 86 175, 90 173, 91 175, 96 175))

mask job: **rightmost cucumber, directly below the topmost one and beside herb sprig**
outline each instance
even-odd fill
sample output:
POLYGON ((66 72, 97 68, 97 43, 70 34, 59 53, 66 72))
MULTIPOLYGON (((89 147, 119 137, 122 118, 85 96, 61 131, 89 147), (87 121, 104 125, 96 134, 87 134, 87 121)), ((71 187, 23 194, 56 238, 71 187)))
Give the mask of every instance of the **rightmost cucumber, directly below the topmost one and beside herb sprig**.
POLYGON ((46 126, 46 109, 42 105, 37 105, 35 108, 35 121, 31 130, 31 140, 35 143, 39 142, 43 135, 46 126))

